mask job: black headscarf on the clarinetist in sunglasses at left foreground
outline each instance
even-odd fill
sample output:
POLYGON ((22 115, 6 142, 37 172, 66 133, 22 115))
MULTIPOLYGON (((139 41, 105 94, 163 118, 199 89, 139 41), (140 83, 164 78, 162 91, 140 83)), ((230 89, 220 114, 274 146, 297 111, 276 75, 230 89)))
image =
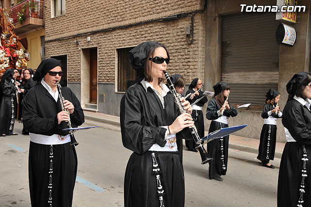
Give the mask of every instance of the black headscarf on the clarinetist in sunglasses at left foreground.
POLYGON ((46 75, 51 69, 55 68, 56 66, 61 67, 63 71, 63 65, 60 60, 54 58, 47 58, 42 60, 37 70, 35 71, 33 79, 37 81, 37 83, 40 83, 44 75, 46 75))

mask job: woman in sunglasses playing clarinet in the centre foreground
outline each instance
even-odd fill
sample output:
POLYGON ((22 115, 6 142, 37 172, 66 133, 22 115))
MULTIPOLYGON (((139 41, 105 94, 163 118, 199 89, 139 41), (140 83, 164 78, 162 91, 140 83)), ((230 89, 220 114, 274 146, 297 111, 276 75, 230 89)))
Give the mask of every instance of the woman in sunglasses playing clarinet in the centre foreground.
MULTIPOLYGON (((180 114, 162 82, 169 53, 163 44, 148 41, 133 48, 129 60, 138 78, 120 107, 123 146, 133 151, 124 177, 124 206, 183 207, 184 171, 176 136, 193 121, 190 114, 180 114)), ((180 100, 191 112, 190 103, 180 100)))

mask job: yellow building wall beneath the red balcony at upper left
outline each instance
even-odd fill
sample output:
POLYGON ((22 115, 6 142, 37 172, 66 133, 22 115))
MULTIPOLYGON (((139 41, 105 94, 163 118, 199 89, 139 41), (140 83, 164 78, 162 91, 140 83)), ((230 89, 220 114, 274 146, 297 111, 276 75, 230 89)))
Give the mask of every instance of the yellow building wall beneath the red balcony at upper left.
MULTIPOLYGON (((27 38, 28 49, 27 53, 30 53, 30 60, 27 62, 27 68, 36 69, 40 62, 40 47, 41 47, 41 36, 44 36, 44 29, 38 29, 29 33, 18 35, 19 38, 27 38)), ((23 46, 21 49, 25 50, 23 46)))

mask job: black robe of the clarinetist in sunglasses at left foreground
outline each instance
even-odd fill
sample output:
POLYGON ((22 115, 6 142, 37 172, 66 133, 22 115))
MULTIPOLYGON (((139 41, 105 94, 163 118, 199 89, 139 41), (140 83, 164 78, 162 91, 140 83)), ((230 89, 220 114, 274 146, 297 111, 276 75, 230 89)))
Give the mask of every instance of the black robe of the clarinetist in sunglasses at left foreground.
MULTIPOLYGON (((65 100, 74 105, 70 114, 71 127, 84 122, 84 113, 80 102, 67 87, 62 87, 65 100)), ((59 98, 57 102, 39 83, 24 97, 23 124, 29 132, 51 136, 67 135, 66 122, 57 123, 57 113, 62 108, 59 98)), ((71 207, 73 188, 77 174, 77 154, 70 143, 59 145, 43 145, 30 142, 29 147, 29 187, 32 207, 48 207, 50 151, 53 150, 52 173, 52 206, 71 207)))

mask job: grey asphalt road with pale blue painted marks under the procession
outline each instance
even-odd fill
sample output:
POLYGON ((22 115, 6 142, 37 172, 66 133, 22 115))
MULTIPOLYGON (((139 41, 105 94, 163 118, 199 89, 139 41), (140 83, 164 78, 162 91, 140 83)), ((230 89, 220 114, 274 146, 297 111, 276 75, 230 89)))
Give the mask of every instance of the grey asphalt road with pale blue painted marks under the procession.
MULTIPOLYGON (((73 207, 123 207, 123 179, 131 151, 121 142, 118 126, 100 126, 75 132, 78 172, 73 207)), ((0 207, 31 207, 28 182, 29 136, 0 137, 0 207)), ((224 181, 209 180, 208 164, 199 153, 184 148, 185 207, 276 207, 278 168, 264 168, 257 154, 229 149, 224 181)), ((280 159, 271 163, 279 166, 280 159)))

